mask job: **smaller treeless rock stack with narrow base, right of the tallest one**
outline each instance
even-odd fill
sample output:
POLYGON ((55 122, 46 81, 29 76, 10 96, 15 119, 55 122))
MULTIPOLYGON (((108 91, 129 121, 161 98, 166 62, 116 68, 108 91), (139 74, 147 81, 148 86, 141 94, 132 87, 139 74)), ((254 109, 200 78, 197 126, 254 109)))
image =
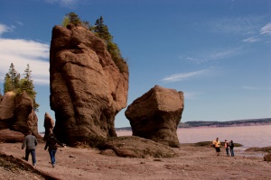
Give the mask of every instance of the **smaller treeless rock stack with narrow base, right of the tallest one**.
POLYGON ((176 134, 183 111, 183 93, 155 85, 126 109, 133 135, 179 147, 176 134))

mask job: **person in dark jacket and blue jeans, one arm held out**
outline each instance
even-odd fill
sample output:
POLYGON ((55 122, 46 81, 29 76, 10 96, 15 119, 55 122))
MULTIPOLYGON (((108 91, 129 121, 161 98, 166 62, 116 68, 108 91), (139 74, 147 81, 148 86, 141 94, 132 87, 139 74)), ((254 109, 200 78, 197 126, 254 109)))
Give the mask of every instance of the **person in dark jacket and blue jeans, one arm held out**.
POLYGON ((57 152, 57 144, 59 144, 61 147, 66 147, 65 144, 62 144, 58 139, 55 138, 53 133, 49 135, 49 138, 47 139, 46 145, 44 150, 46 150, 48 147, 48 151, 51 157, 51 166, 55 166, 55 153, 57 152))

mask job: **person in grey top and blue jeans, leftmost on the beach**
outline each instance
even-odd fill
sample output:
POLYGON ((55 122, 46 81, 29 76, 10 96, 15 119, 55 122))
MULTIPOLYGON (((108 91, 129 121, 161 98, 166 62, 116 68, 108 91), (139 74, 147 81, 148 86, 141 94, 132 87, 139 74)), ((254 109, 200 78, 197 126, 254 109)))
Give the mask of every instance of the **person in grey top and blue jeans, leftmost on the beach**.
POLYGON ((32 157, 33 166, 36 166, 36 151, 35 148, 38 145, 38 140, 32 135, 32 131, 29 130, 25 138, 23 139, 22 149, 25 148, 25 160, 28 161, 29 154, 32 157))

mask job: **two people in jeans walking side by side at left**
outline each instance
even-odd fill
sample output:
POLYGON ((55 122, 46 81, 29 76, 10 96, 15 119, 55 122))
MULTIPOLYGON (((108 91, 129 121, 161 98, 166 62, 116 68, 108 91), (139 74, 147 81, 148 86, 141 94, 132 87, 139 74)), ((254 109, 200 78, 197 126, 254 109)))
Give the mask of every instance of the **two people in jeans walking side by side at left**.
MULTIPOLYGON (((44 150, 48 148, 49 155, 51 157, 51 166, 55 166, 55 153, 57 152, 57 144, 62 147, 66 147, 65 144, 61 143, 55 138, 54 134, 51 133, 46 141, 44 150)), ((28 157, 31 154, 33 166, 36 166, 36 152, 35 148, 38 145, 38 140, 32 135, 32 131, 28 131, 28 134, 23 139, 22 149, 25 148, 25 160, 28 161, 28 157)))

